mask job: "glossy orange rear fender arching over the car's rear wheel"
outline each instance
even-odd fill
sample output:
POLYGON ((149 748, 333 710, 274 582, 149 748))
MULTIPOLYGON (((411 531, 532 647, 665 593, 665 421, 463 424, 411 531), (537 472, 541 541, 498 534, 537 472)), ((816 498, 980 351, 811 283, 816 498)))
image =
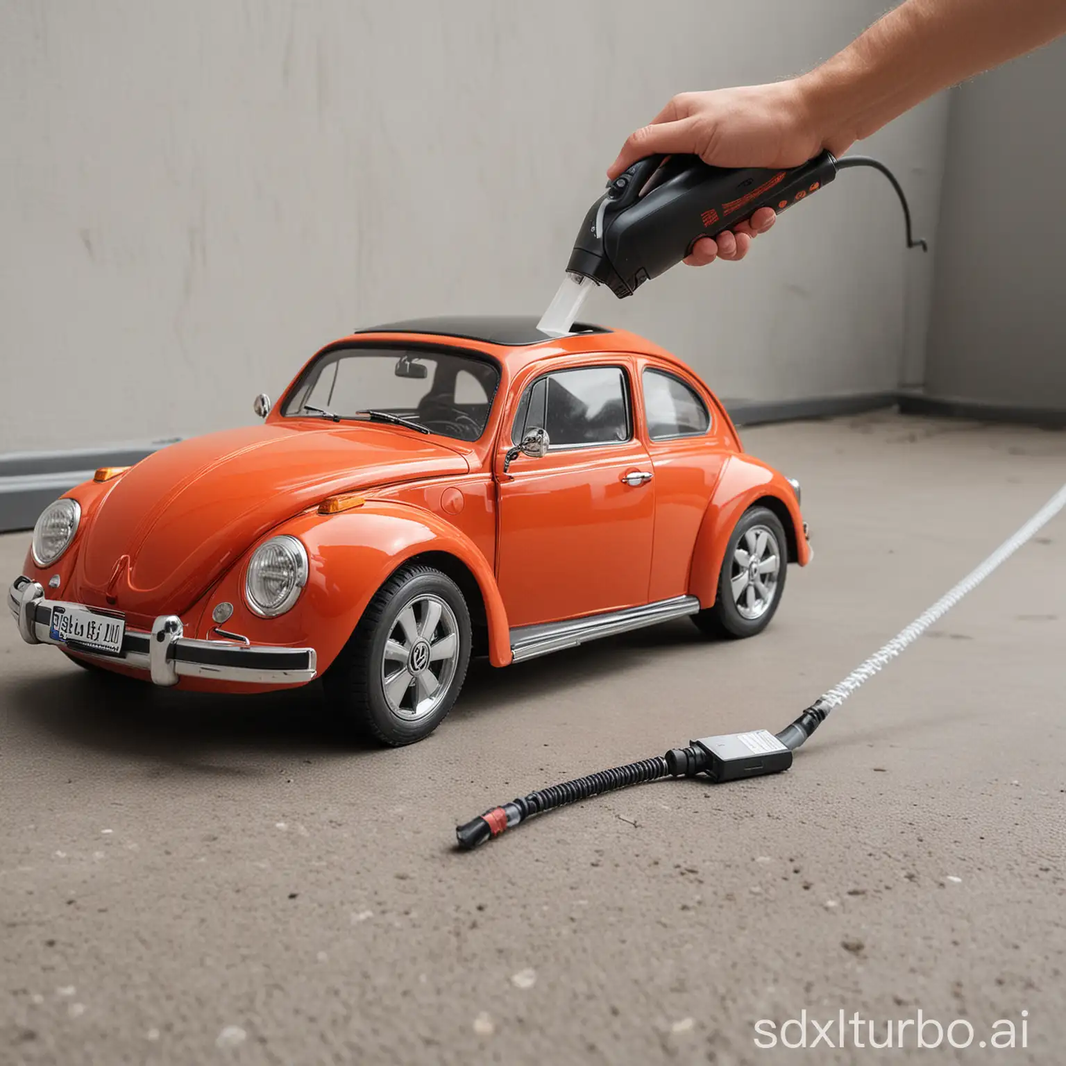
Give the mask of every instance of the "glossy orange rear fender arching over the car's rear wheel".
MULTIPOLYGON (((768 497, 773 500, 773 510, 791 522, 791 533, 795 537, 794 561, 801 566, 810 561, 803 516, 792 486, 765 463, 746 454, 730 455, 707 505, 692 554, 689 595, 697 597, 701 608, 710 607, 717 596, 722 560, 741 515, 768 497)), ((785 523, 786 533, 790 532, 789 522, 785 523)), ((793 560, 791 552, 790 560, 793 560)))

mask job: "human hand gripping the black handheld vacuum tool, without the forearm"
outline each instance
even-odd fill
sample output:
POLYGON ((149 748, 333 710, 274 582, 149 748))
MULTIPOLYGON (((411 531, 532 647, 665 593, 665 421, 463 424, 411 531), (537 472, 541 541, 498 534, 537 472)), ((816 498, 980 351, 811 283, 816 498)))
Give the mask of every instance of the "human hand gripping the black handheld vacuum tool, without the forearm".
MULTIPOLYGON (((826 140, 800 80, 681 93, 650 125, 627 138, 607 173, 614 179, 639 159, 660 152, 691 152, 712 166, 798 166, 822 148, 839 155, 850 144, 838 138, 830 145, 826 140)), ((776 217, 773 208, 759 208, 732 230, 713 239, 701 237, 684 261, 705 266, 715 259, 743 259, 752 241, 776 217)))

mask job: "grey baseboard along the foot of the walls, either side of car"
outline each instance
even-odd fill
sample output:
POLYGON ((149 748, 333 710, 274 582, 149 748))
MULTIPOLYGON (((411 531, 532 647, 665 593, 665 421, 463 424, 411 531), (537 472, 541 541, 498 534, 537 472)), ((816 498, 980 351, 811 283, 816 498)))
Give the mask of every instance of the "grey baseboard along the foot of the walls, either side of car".
MULTIPOLYGON (((725 400, 723 403, 729 417, 740 426, 839 418, 899 406, 904 415, 1066 429, 1066 410, 938 400, 918 392, 865 392, 769 403, 758 400, 725 400)), ((97 467, 131 466, 179 439, 175 437, 169 440, 65 452, 9 452, 0 455, 0 533, 33 529, 37 516, 52 500, 75 485, 87 481, 97 467)))

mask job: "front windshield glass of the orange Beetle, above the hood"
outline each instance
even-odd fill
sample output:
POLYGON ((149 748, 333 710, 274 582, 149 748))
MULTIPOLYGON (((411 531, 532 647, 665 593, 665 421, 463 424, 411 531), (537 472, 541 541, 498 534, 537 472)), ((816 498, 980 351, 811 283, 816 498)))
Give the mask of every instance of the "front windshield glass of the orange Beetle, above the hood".
POLYGON ((477 440, 499 383, 495 362, 463 352, 352 345, 311 362, 281 414, 366 419, 477 440))

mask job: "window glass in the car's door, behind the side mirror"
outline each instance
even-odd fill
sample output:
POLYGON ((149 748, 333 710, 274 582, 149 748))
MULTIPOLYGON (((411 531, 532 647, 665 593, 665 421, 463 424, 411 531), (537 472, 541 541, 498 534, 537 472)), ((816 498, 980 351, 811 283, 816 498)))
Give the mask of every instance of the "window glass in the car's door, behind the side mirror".
POLYGON ((580 367, 538 377, 522 393, 511 439, 548 431, 552 448, 616 445, 632 436, 629 390, 620 367, 580 367))

